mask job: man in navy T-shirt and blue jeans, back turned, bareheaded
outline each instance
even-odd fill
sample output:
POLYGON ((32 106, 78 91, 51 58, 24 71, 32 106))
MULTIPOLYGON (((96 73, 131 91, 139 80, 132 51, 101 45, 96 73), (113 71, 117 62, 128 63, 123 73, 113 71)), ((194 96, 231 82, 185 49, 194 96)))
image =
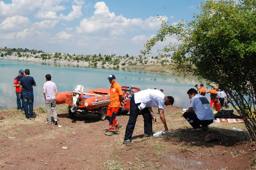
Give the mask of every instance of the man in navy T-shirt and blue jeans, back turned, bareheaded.
POLYGON ((36 86, 36 84, 34 78, 30 77, 29 74, 29 69, 26 69, 25 76, 20 79, 20 97, 23 99, 26 118, 32 119, 34 103, 33 86, 36 86))

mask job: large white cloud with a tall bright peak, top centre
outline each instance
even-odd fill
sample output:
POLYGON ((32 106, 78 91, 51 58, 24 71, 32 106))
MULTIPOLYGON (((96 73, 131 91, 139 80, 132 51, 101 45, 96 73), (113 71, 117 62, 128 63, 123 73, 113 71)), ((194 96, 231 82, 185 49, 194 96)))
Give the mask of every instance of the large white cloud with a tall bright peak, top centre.
MULTIPOLYGON (((80 25, 76 27, 76 32, 82 33, 102 33, 111 35, 122 35, 125 31, 134 31, 138 29, 153 30, 158 29, 161 23, 157 17, 148 17, 145 20, 140 18, 127 19, 122 15, 116 16, 110 12, 104 2, 97 2, 94 5, 94 15, 90 18, 84 18, 80 25)), ((163 20, 168 17, 163 16, 163 20)))

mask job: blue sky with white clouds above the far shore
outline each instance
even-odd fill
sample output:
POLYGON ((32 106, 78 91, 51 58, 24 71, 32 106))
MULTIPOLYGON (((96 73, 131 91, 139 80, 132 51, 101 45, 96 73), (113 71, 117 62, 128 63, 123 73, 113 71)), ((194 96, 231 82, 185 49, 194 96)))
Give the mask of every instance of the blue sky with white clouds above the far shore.
MULTIPOLYGON (((138 56, 157 34, 163 17, 169 24, 191 21, 206 0, 3 0, 0 47, 48 53, 138 56)), ((176 42, 168 37, 156 49, 176 42)))

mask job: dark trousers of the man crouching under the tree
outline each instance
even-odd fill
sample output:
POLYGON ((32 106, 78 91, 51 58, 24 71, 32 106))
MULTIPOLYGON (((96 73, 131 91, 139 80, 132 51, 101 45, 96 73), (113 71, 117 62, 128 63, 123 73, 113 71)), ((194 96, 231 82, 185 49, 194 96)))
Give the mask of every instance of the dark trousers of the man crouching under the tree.
POLYGON ((201 126, 210 125, 213 122, 212 120, 200 120, 196 116, 195 112, 185 112, 183 117, 189 122, 189 124, 194 128, 200 128, 201 126))

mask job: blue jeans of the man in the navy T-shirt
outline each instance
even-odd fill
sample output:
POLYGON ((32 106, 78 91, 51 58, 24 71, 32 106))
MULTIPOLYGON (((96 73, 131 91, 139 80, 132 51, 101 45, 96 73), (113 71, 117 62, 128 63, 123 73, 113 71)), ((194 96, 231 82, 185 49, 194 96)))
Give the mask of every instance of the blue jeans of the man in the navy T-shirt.
POLYGON ((33 117, 34 94, 22 94, 23 106, 26 118, 33 117))

